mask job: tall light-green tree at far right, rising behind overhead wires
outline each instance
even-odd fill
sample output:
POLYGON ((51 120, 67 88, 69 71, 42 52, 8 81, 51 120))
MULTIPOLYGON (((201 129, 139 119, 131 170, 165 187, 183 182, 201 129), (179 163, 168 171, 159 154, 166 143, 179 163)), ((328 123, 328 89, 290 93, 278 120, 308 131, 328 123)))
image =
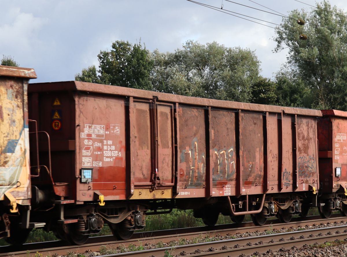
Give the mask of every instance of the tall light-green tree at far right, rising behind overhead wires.
POLYGON ((293 67, 295 77, 300 78, 297 82, 310 88, 314 96, 312 107, 347 110, 346 13, 327 1, 316 6, 319 9, 309 13, 293 10, 289 13, 293 19, 282 19, 283 27, 278 27, 274 38, 275 51, 289 49, 287 64, 293 67), (298 18, 306 24, 298 25, 298 18), (308 39, 300 40, 300 34, 308 39))

